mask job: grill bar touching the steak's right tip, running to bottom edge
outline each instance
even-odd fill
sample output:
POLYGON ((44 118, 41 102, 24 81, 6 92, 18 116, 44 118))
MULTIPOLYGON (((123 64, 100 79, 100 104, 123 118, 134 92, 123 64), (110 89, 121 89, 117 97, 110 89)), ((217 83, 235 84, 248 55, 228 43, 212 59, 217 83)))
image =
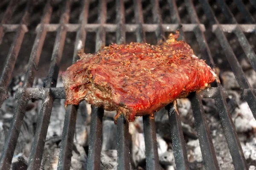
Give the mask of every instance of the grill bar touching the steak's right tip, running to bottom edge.
MULTIPOLYGON (((185 1, 187 11, 189 12, 189 16, 191 18, 192 23, 200 23, 198 16, 195 11, 195 7, 193 6, 193 3, 191 0, 185 1)), ((201 54, 206 59, 207 64, 214 66, 214 62, 212 59, 211 52, 209 50, 209 46, 207 44, 206 38, 204 37, 204 32, 200 29, 195 29, 195 35, 197 37, 199 46, 201 48, 201 54)), ((215 102, 218 108, 218 112, 221 117, 221 123, 224 129, 224 133, 227 139, 228 146, 230 148, 230 154, 233 158, 234 166, 236 169, 246 169, 247 164, 244 158, 243 150, 241 148, 241 144, 239 142, 234 123, 232 120, 232 117, 230 115, 230 112, 227 109, 227 102, 226 102, 226 95, 224 94, 220 81, 217 77, 216 84, 218 87, 218 95, 215 96, 215 102)))

